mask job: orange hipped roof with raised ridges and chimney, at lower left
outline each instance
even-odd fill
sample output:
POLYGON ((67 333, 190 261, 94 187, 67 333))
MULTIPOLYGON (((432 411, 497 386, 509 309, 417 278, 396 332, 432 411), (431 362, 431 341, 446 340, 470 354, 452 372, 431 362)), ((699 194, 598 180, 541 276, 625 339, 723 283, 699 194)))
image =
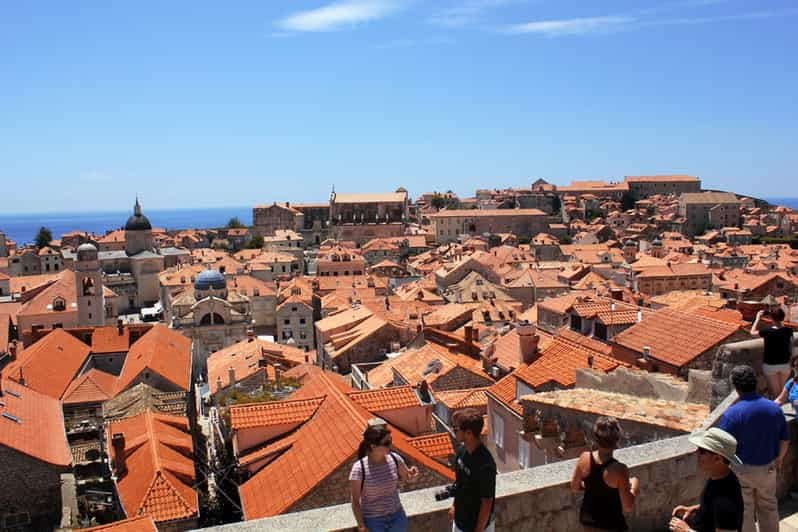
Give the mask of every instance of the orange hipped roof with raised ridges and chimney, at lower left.
POLYGON ((107 448, 114 463, 111 439, 119 433, 125 436, 127 473, 116 485, 125 513, 149 514, 156 522, 196 516, 199 501, 188 419, 146 411, 109 423, 107 448))

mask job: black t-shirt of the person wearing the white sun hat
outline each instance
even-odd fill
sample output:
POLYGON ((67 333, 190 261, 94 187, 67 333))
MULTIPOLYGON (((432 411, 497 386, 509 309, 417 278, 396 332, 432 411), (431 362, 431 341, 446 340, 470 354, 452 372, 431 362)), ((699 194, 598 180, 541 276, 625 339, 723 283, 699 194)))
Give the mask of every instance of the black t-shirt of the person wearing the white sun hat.
POLYGON ((707 480, 701 493, 701 508, 690 519, 698 532, 743 529, 743 492, 733 472, 718 480, 707 480))

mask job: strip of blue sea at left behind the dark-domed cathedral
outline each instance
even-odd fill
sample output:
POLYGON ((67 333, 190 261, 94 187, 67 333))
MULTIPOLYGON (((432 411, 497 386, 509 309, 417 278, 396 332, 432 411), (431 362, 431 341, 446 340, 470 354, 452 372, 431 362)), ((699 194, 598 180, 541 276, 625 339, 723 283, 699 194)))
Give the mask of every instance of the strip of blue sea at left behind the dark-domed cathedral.
MULTIPOLYGON (((252 207, 220 207, 214 209, 144 209, 153 227, 161 229, 204 229, 222 227, 237 216, 241 223, 252 224, 252 207)), ((59 239, 70 231, 86 231, 98 235, 125 226, 132 210, 114 212, 64 212, 45 214, 0 214, 0 231, 18 244, 36 239, 44 226, 59 239)))

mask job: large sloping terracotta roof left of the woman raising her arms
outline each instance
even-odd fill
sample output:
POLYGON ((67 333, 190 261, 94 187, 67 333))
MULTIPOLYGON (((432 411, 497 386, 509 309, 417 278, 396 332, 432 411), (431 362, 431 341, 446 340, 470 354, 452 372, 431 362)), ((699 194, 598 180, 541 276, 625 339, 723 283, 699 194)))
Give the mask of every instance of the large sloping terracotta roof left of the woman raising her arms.
POLYGON ((650 347, 652 358, 682 367, 738 330, 739 325, 664 308, 648 314, 613 340, 638 353, 644 346, 650 347))

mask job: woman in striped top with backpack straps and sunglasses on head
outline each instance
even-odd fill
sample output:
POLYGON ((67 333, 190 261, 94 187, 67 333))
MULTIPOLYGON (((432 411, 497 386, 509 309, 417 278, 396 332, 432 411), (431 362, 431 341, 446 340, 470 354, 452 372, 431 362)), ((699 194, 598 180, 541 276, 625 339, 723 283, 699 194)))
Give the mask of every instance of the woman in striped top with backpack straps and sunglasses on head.
POLYGON ((399 480, 414 480, 418 469, 407 467, 402 457, 391 451, 391 443, 385 422, 370 420, 349 474, 358 532, 407 530, 407 516, 399 501, 399 480))

